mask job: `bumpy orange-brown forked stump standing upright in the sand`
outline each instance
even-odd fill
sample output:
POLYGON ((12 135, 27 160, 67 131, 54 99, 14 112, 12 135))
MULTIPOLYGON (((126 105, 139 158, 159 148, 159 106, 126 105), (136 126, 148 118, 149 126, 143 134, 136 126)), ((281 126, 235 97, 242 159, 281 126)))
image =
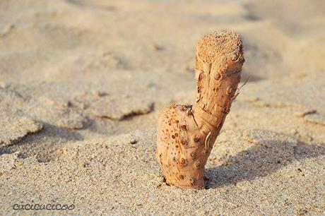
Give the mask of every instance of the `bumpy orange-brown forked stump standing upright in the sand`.
POLYGON ((237 96, 243 63, 239 35, 213 32, 199 40, 194 105, 172 104, 158 118, 156 156, 167 184, 204 188, 204 167, 237 96))

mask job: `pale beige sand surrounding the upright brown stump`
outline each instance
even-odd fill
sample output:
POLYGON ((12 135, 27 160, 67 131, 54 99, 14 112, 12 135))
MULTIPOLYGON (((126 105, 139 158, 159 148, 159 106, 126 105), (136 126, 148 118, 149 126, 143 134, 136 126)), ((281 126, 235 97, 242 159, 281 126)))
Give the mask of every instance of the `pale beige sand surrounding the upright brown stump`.
POLYGON ((324 1, 0 1, 0 215, 324 215, 324 1), (246 62, 200 191, 167 186, 155 124, 194 100, 194 47, 246 62), (14 210, 25 204, 73 210, 14 210))

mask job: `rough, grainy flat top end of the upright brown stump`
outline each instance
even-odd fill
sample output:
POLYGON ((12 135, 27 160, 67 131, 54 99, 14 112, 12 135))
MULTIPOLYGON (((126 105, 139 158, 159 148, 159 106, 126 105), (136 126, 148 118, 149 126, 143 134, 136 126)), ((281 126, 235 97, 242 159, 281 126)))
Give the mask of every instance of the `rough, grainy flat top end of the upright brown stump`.
POLYGON ((242 52, 242 40, 235 32, 212 32, 204 35, 196 45, 199 59, 212 63, 232 52, 242 52))

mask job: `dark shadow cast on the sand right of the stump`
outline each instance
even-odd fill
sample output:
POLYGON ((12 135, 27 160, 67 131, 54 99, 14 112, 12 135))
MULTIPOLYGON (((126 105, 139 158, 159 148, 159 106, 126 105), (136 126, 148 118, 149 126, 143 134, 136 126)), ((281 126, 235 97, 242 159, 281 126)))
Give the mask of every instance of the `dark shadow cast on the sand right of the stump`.
MULTIPOLYGON (((325 155, 325 147, 298 143, 285 143, 278 140, 262 140, 226 160, 223 165, 206 169, 206 188, 218 188, 240 181, 249 181, 267 176, 286 167, 295 160, 325 155)), ((304 170, 297 168, 304 174, 304 170)))

